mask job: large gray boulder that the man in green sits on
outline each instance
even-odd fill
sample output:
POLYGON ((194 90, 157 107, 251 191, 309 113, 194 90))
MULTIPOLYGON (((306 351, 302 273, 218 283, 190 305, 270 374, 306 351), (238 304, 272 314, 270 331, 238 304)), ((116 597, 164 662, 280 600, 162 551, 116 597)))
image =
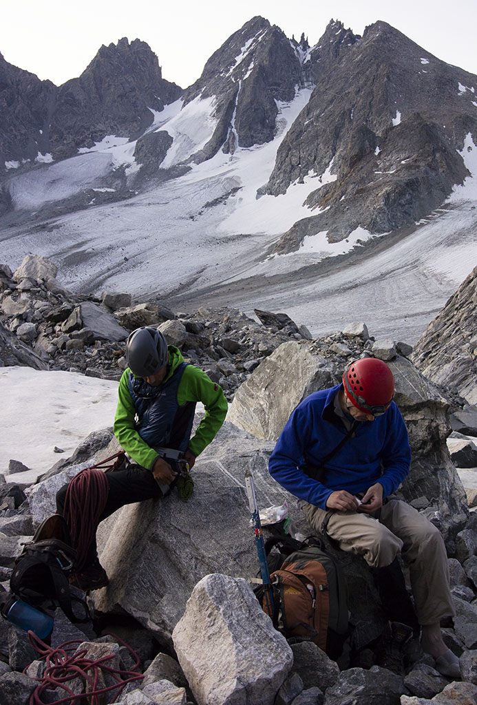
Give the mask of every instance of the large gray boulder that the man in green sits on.
MULTIPOLYGON (((104 457, 116 447, 107 448, 104 457)), ((127 505, 104 521, 98 532, 99 555, 110 584, 94 593, 97 609, 108 612, 120 605, 167 640, 204 575, 255 577, 259 563, 244 487, 247 465, 259 505, 281 505, 286 499, 295 525, 305 532, 295 498, 268 474, 272 447, 225 422, 197 458, 194 493, 187 503, 173 492, 161 500, 127 505)))

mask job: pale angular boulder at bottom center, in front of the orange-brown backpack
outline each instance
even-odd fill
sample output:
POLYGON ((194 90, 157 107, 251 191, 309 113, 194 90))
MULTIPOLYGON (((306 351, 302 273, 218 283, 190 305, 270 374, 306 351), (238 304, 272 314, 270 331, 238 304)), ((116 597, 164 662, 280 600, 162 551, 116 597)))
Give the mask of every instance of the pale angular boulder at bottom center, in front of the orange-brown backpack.
POLYGON ((247 582, 225 575, 197 584, 173 640, 199 705, 272 705, 292 666, 247 582))

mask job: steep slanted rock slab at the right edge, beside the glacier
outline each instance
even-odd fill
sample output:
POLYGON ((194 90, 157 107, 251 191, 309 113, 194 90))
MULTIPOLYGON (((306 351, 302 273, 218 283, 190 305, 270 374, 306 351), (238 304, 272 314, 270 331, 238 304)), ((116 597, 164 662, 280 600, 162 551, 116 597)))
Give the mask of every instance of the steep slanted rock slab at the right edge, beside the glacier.
POLYGON ((436 384, 477 404, 477 267, 430 322, 411 355, 436 384))

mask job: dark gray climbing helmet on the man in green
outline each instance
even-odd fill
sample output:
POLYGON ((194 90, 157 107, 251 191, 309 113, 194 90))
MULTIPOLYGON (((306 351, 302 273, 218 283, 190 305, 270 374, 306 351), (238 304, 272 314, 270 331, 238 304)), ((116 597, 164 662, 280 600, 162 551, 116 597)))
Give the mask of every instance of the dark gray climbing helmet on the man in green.
POLYGON ((169 360, 166 338, 152 326, 132 331, 126 343, 126 361, 137 377, 149 377, 166 367, 169 360))

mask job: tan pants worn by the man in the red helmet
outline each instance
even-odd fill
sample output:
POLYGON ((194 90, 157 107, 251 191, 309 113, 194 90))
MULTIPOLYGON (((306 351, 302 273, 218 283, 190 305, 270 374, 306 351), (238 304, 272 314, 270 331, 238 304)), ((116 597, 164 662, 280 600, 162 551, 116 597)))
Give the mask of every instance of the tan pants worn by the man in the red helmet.
MULTIPOLYGON (((315 532, 328 513, 313 504, 303 507, 306 520, 315 532)), ((333 512, 328 535, 342 551, 363 556, 372 568, 389 565, 397 553, 409 566, 419 624, 438 623, 454 616, 450 594, 449 563, 438 529, 409 504, 390 498, 376 517, 357 512, 333 512)))

